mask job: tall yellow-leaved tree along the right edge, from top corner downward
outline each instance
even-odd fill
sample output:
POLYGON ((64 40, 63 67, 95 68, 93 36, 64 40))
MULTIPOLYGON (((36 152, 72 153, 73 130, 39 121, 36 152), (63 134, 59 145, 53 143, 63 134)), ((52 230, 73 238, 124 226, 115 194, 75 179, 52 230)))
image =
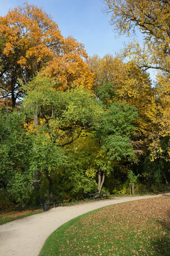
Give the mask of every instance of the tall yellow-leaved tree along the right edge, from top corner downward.
POLYGON ((134 35, 139 29, 143 45, 127 45, 123 54, 133 58, 143 70, 158 70, 156 76, 156 112, 150 128, 150 159, 169 158, 170 108, 170 2, 164 0, 104 0, 105 12, 118 35, 134 35), (166 143, 165 143, 166 141, 166 143))

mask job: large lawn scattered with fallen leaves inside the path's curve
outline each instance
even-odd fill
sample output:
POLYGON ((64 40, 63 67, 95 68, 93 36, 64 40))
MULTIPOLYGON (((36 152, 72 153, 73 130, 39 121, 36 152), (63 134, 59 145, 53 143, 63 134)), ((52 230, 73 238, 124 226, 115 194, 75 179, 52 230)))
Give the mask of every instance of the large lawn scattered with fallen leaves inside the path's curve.
POLYGON ((170 196, 79 216, 48 237, 39 256, 170 256, 170 196))

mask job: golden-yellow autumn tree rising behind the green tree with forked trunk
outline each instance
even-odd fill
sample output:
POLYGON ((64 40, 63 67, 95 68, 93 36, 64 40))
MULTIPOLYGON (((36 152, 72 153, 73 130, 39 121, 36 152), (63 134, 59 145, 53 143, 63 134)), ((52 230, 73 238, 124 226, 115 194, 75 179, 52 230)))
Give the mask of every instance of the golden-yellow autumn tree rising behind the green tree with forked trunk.
POLYGON ((94 93, 106 110, 113 102, 124 102, 138 109, 138 118, 135 121, 136 134, 131 137, 136 160, 133 165, 127 161, 130 168, 138 174, 137 162, 143 161, 147 149, 151 146, 150 136, 158 131, 156 88, 152 87, 149 74, 135 61, 123 62, 121 58, 113 55, 105 55, 102 58, 94 55, 87 59, 87 63, 95 74, 94 93))

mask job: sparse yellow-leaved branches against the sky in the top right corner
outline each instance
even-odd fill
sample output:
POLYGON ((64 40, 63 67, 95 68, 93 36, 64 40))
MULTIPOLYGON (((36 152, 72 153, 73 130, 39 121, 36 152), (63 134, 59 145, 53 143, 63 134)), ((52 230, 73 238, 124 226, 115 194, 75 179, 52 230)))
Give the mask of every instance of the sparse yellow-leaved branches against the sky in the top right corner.
MULTIPOLYGON (((170 72, 170 2, 164 0, 104 0, 105 12, 111 14, 113 30, 134 34, 139 29, 144 34, 146 55, 136 52, 141 67, 170 72)), ((133 51, 133 49, 132 49, 133 51)))

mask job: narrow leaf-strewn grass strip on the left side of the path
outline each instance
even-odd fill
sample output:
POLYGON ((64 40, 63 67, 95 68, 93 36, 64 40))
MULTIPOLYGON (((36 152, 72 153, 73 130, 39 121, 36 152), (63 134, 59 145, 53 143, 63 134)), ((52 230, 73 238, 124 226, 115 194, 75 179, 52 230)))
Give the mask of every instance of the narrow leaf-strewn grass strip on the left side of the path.
POLYGON ((36 210, 24 210, 22 212, 11 211, 11 212, 0 212, 0 225, 5 224, 9 221, 14 221, 20 218, 28 217, 42 212, 40 209, 36 210))

